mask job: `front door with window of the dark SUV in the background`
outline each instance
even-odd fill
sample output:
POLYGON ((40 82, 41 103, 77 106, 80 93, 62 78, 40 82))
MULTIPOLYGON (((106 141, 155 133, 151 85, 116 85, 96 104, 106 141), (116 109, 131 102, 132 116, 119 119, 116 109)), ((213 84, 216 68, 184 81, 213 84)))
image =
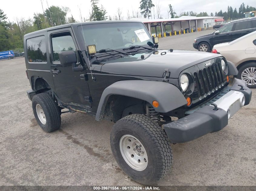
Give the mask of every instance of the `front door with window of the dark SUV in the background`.
POLYGON ((227 24, 227 25, 221 27, 218 30, 220 33, 218 33, 218 34, 214 33, 214 35, 212 37, 212 46, 215 44, 219 44, 219 43, 230 42, 232 40, 233 27, 234 27, 234 23, 230 23, 230 24, 227 24))

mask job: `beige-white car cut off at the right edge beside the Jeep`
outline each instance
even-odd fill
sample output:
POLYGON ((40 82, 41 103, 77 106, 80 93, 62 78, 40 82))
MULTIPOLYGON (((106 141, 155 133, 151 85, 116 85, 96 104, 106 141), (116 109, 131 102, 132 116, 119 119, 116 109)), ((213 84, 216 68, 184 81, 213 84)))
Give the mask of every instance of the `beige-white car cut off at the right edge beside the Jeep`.
POLYGON ((216 44, 212 53, 220 53, 237 69, 237 78, 245 80, 249 88, 256 88, 256 31, 228 43, 216 44))

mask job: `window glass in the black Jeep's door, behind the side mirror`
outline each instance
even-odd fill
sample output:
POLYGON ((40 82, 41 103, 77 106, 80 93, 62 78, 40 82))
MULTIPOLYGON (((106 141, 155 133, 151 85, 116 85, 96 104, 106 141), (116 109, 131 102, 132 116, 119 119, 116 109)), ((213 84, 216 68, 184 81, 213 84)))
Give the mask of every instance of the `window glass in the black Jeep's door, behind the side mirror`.
POLYGON ((77 62, 80 62, 75 43, 69 32, 54 34, 51 36, 52 40, 52 61, 59 62, 59 52, 74 50, 76 53, 77 62))

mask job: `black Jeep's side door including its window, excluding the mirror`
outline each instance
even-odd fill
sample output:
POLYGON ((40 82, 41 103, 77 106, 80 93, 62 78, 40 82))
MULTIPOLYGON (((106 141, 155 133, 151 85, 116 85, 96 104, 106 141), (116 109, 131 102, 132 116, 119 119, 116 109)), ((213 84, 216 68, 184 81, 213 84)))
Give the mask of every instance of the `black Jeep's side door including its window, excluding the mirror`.
POLYGON ((61 65, 58 53, 66 50, 74 50, 77 57, 76 66, 83 63, 78 46, 73 36, 71 28, 65 30, 48 31, 48 44, 51 61, 51 71, 59 71, 58 74, 52 73, 55 85, 55 93, 58 98, 68 105, 68 107, 78 110, 86 110, 92 107, 88 81, 85 81, 85 70, 73 72, 72 65, 61 65))

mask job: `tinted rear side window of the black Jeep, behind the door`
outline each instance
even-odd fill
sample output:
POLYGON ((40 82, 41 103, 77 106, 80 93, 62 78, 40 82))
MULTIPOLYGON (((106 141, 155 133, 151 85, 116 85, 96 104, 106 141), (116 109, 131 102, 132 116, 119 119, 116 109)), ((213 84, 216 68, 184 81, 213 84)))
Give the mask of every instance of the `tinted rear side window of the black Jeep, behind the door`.
POLYGON ((47 62, 45 36, 27 40, 28 62, 47 62))

